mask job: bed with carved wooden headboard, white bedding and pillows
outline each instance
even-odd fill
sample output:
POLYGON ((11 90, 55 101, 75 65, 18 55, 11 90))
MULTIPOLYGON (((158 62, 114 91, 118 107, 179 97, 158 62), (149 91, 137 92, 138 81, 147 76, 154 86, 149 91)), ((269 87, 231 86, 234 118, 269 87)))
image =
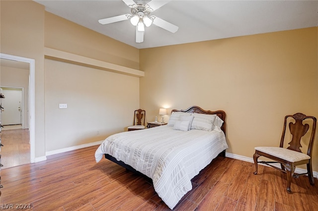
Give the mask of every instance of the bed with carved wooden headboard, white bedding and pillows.
POLYGON ((172 210, 192 189, 191 179, 219 154, 225 156, 226 114, 198 106, 171 111, 167 125, 114 134, 96 149, 105 158, 152 179, 172 210))

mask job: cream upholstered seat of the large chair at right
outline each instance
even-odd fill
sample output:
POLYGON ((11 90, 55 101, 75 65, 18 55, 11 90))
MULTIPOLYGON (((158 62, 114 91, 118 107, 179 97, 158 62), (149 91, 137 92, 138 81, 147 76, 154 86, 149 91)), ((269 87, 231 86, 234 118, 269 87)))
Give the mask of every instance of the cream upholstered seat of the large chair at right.
POLYGON ((255 150, 273 155, 275 157, 279 157, 290 162, 310 159, 310 156, 307 154, 282 147, 258 146, 255 147, 255 150))

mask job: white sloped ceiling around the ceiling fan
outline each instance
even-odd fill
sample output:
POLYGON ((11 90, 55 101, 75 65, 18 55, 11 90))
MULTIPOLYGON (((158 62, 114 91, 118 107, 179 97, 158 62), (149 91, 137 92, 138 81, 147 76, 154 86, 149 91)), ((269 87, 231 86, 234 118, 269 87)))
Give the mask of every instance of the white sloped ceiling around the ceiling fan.
POLYGON ((98 23, 131 13, 122 0, 35 1, 48 12, 139 49, 318 26, 318 0, 171 0, 151 14, 177 25, 178 31, 152 24, 144 42, 136 43, 129 20, 98 23))

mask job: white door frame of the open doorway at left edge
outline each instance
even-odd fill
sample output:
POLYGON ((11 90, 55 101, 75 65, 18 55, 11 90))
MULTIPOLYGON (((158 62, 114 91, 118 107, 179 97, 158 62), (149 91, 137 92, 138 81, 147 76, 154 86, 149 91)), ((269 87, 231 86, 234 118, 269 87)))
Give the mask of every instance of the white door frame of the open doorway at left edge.
POLYGON ((29 131, 30 131, 30 162, 35 162, 35 60, 0 53, 1 59, 29 63, 29 131))

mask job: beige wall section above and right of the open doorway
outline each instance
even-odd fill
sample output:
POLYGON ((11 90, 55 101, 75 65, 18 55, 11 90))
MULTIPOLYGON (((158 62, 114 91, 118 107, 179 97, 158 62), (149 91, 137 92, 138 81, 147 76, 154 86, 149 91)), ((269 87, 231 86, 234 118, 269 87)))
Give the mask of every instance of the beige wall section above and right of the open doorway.
POLYGON ((35 157, 45 155, 44 7, 34 1, 0 1, 0 52, 35 60, 35 157))

